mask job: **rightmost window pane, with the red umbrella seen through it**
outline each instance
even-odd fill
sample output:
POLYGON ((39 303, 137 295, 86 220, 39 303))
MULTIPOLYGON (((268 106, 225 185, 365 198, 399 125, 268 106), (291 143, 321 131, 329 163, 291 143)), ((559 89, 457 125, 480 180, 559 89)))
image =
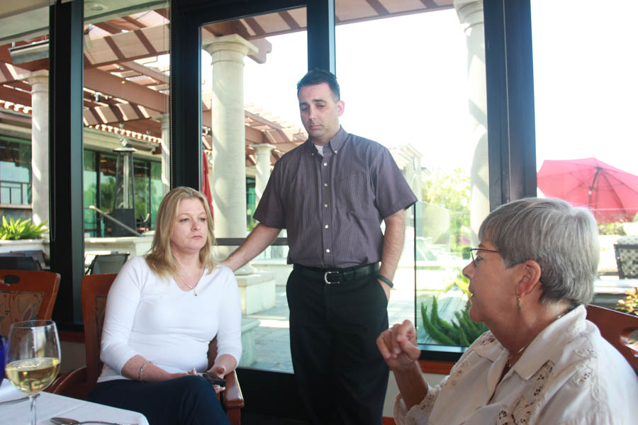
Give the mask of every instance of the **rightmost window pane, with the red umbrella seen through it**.
POLYGON ((614 308, 631 286, 619 280, 614 244, 638 236, 638 64, 630 53, 638 43, 638 3, 532 0, 531 6, 538 193, 594 213, 600 231, 594 302, 614 308))

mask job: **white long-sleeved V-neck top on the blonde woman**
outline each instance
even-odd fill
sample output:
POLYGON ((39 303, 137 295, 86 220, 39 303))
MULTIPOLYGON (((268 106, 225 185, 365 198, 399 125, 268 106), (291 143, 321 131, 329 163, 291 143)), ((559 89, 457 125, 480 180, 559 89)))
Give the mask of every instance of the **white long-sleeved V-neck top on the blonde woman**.
POLYGON ((135 355, 169 373, 206 370, 208 343, 217 336, 217 356, 242 354, 241 305, 230 268, 206 271, 195 290, 159 278, 138 256, 122 267, 108 291, 102 331, 104 367, 98 382, 128 379, 123 366, 135 355), (197 296, 194 296, 194 293, 197 296))

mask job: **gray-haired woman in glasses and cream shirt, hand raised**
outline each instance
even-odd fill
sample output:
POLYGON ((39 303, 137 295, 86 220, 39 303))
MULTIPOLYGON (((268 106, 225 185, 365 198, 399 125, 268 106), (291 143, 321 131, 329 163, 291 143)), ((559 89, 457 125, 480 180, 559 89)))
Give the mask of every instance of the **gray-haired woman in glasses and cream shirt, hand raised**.
POLYGON ((398 425, 636 424, 638 378, 586 317, 598 266, 591 212, 556 199, 500 206, 463 273, 469 315, 487 331, 448 376, 423 379, 406 320, 379 350, 401 394, 398 425))

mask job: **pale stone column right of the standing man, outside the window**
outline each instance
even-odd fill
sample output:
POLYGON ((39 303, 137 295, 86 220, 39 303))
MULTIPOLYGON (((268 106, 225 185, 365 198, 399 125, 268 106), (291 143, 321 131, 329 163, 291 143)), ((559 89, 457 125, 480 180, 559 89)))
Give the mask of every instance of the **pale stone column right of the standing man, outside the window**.
POLYGON ((470 227, 471 243, 478 246, 478 227, 490 212, 483 1, 454 0, 454 8, 464 29, 467 45, 471 116, 468 145, 474 150, 470 171, 470 227))

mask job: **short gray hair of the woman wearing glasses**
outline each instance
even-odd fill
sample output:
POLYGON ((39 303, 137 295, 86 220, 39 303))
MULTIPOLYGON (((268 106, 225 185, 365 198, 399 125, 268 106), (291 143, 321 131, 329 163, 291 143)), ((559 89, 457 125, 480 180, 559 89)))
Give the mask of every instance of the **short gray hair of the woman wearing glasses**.
POLYGON ((524 198, 493 210, 478 237, 498 249, 508 268, 534 260, 542 270, 541 302, 593 299, 600 251, 598 227, 586 208, 564 200, 524 198))

